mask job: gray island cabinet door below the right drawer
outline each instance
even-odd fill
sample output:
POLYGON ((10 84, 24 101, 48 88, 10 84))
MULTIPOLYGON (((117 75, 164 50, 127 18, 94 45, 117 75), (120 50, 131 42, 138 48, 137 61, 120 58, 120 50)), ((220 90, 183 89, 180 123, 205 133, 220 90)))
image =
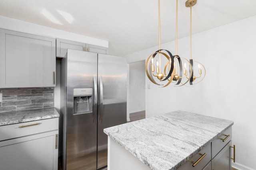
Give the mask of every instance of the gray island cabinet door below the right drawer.
POLYGON ((212 160, 212 170, 231 170, 231 141, 212 160))

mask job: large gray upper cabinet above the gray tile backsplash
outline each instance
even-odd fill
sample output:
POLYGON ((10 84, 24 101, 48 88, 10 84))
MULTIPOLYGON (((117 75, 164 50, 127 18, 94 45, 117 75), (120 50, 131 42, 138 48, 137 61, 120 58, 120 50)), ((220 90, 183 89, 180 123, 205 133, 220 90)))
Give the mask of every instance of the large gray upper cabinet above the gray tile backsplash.
POLYGON ((0 29, 0 88, 56 86, 55 41, 0 29))

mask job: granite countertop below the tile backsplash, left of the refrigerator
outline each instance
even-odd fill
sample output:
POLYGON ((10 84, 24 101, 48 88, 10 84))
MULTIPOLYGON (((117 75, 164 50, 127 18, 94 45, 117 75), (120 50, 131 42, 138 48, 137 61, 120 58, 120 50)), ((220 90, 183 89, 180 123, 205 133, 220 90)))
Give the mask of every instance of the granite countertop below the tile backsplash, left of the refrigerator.
POLYGON ((0 126, 59 117, 54 107, 0 113, 0 126))

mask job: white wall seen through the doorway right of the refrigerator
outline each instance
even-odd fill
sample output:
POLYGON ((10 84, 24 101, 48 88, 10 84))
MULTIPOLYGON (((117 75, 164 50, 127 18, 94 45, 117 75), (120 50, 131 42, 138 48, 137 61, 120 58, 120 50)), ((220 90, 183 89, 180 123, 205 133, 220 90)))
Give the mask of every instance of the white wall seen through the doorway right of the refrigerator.
POLYGON ((129 64, 130 113, 146 109, 145 60, 129 64))

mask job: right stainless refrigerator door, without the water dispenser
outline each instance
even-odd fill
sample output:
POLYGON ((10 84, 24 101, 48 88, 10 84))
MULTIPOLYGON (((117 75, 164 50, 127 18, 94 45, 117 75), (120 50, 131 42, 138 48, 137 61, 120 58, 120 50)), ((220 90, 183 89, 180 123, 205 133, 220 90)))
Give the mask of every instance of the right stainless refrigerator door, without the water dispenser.
POLYGON ((126 123, 125 57, 98 54, 98 94, 97 169, 106 166, 108 160, 108 138, 103 129, 126 123))

